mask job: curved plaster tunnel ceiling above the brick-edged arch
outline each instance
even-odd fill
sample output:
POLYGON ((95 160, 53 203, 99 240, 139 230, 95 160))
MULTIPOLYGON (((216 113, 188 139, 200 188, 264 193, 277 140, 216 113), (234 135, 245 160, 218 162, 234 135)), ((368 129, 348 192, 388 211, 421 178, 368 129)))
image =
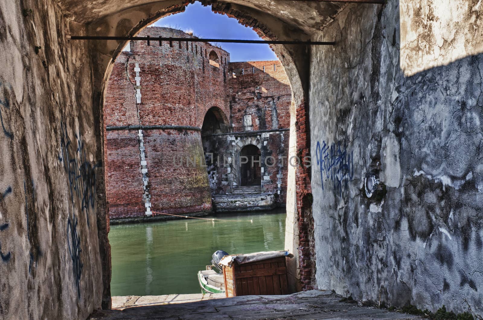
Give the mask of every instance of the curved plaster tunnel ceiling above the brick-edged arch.
MULTIPOLYGON (((192 1, 189 1, 192 2, 192 1)), ((79 23, 89 23, 99 20, 108 15, 122 12, 139 6, 152 4, 159 6, 166 3, 166 7, 189 3, 188 1, 150 1, 150 0, 60 0, 58 1, 64 14, 73 21, 79 23)), ((202 1, 204 4, 214 3, 215 1, 202 1)), ((300 28, 305 32, 312 33, 320 29, 327 22, 332 20, 332 16, 337 14, 344 3, 315 2, 315 1, 285 1, 285 0, 234 0, 223 1, 235 5, 244 6, 248 11, 256 10, 263 14, 269 14, 278 18, 291 28, 300 28)))

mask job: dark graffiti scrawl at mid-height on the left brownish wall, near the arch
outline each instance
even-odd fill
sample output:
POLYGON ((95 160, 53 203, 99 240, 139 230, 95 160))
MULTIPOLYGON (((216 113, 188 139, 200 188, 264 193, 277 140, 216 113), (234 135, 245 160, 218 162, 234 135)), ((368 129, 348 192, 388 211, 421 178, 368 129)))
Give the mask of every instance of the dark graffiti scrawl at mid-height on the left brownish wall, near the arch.
POLYGON ((89 226, 89 208, 94 208, 96 194, 96 168, 87 161, 84 152, 84 143, 80 135, 75 135, 75 144, 71 142, 67 133, 67 126, 61 122, 61 155, 59 161, 63 162, 67 172, 71 192, 71 203, 75 205, 74 196, 81 200, 81 210, 85 212, 87 226, 89 226))

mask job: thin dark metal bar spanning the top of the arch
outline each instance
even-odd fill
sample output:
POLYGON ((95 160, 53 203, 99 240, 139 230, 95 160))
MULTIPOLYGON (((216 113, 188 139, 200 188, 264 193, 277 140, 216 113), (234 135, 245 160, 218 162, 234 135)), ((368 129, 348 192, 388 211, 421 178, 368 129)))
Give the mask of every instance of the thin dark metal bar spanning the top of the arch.
POLYGON ((325 41, 281 41, 281 40, 235 40, 235 39, 198 39, 198 38, 164 38, 164 37, 108 37, 108 36, 71 36, 67 35, 68 40, 158 40, 186 41, 186 42, 226 42, 226 43, 262 43, 262 44, 306 44, 306 45, 334 45, 335 42, 325 41))

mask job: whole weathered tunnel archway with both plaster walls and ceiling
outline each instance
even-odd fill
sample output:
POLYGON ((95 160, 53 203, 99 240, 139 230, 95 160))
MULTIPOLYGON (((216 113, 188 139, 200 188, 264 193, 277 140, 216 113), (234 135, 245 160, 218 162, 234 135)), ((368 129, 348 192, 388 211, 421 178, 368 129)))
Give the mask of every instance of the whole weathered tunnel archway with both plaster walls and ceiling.
MULTIPOLYGON (((7 318, 85 319, 101 299, 110 306, 102 102, 125 43, 65 35, 135 35, 191 2, 0 2, 0 304, 7 318)), ((433 311, 441 304, 481 309, 481 277, 466 272, 481 264, 475 252, 483 237, 475 160, 483 138, 474 113, 482 101, 474 86, 481 83, 481 1, 451 10, 434 0, 384 2, 226 0, 212 8, 267 39, 336 42, 273 46, 294 95, 291 155, 312 150, 315 158, 317 145, 327 153, 341 145, 355 165, 344 199, 323 180, 320 162, 313 177, 309 169, 289 171, 286 248, 300 248, 305 288, 315 277, 314 231, 325 289, 433 311), (384 204, 360 192, 372 169, 384 173, 384 204)))

